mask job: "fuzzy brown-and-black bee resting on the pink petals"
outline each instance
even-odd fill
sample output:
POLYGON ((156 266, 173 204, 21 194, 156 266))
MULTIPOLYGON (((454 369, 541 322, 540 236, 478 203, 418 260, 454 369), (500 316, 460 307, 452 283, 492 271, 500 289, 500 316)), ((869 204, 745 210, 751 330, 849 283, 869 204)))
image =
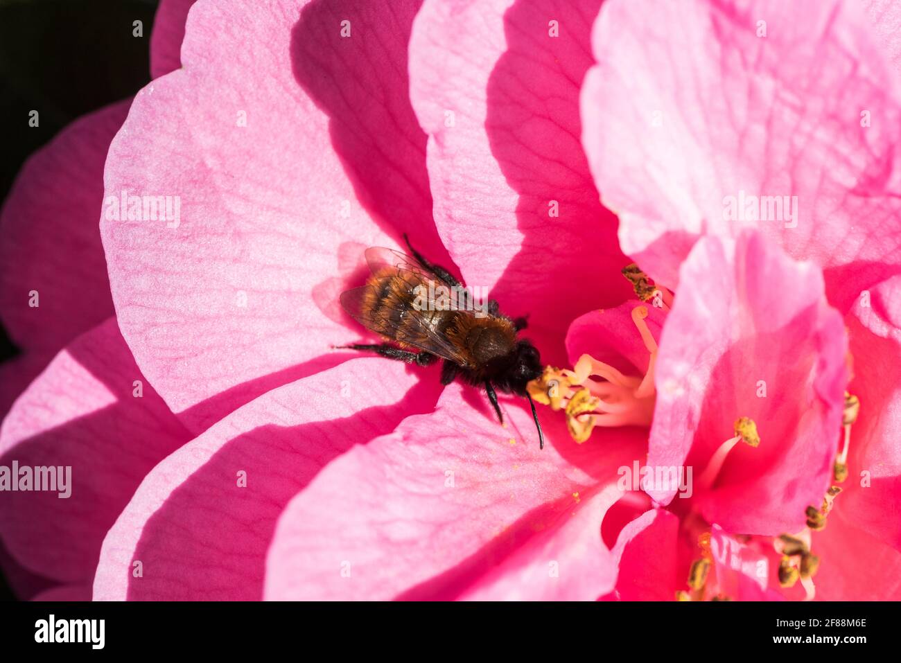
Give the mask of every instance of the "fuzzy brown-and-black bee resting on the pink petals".
POLYGON ((381 247, 367 249, 371 274, 366 285, 341 293, 344 311, 386 342, 341 348, 418 366, 443 359, 441 384, 459 379, 484 386, 502 424, 496 392, 524 396, 532 405, 539 446, 544 449, 542 425, 526 390, 542 375, 541 357, 532 341, 518 338, 526 319, 506 317, 493 299, 476 304, 469 290, 447 269, 424 259, 406 234, 404 241, 412 257, 381 247))

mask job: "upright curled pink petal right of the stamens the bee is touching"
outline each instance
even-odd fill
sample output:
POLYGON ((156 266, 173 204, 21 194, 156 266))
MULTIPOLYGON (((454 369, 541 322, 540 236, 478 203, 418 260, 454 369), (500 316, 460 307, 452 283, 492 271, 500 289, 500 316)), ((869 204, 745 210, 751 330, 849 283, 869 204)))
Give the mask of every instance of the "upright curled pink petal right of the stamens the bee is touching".
MULTIPOLYGON (((648 464, 693 468, 693 501, 726 531, 797 531, 831 477, 846 347, 815 265, 759 233, 702 239, 663 328, 648 464), (760 446, 739 443, 703 485, 740 417, 756 422, 760 446)), ((674 492, 651 496, 668 504, 674 492)))

